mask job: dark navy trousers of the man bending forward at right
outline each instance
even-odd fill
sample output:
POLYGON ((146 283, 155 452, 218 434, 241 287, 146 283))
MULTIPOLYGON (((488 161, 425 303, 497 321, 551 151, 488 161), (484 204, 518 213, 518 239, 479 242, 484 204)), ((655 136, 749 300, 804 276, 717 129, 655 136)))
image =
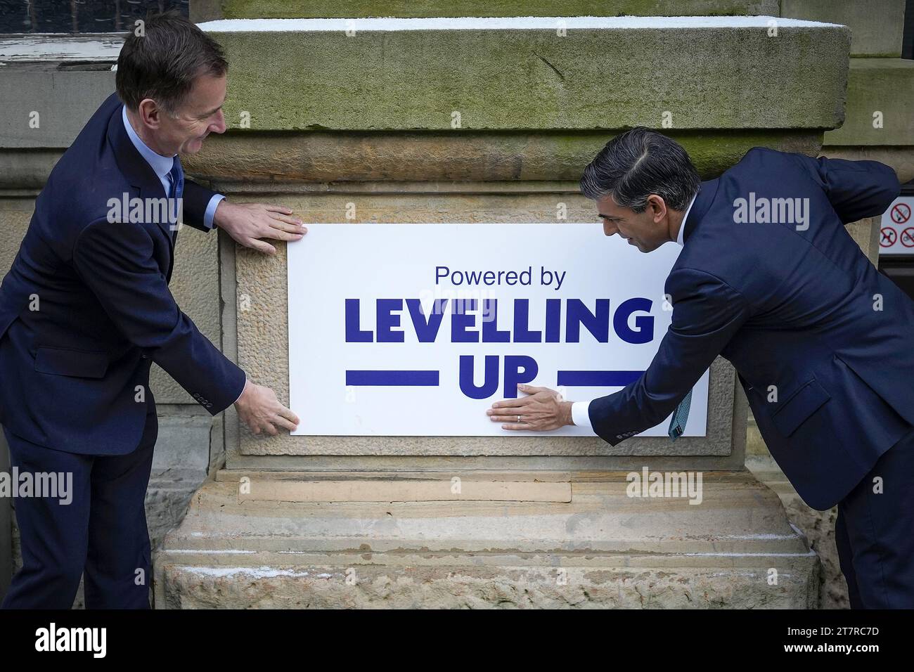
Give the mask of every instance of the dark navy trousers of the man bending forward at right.
POLYGON ((914 429, 838 503, 834 539, 852 609, 914 609, 914 429))

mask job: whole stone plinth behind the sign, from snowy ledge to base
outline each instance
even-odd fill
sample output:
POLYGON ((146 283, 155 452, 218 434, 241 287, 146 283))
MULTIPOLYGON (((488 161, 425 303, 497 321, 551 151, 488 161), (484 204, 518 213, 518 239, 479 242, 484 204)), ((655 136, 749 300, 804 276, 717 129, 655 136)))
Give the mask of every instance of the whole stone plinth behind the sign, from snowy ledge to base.
MULTIPOLYGON (((569 221, 592 220, 580 171, 636 123, 672 134, 706 177, 755 145, 818 154, 844 119, 849 31, 777 19, 774 36, 771 20, 207 23, 231 63, 229 132, 186 169, 306 222, 554 222, 559 203, 569 221)), ((222 336, 287 401, 277 251, 223 236, 222 336)), ((736 389, 718 359, 707 437, 615 447, 255 437, 229 411, 226 468, 156 556, 156 606, 812 606, 818 559, 744 468, 736 389), (643 467, 702 475, 701 503, 628 496, 627 473, 643 467), (454 494, 455 477, 480 485, 454 494)))

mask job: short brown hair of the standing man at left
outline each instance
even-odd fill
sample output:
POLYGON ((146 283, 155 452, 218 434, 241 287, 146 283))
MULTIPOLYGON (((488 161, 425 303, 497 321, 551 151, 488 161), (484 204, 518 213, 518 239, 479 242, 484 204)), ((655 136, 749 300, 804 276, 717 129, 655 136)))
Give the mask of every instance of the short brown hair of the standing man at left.
POLYGON ((174 114, 197 77, 227 71, 216 40, 172 10, 149 16, 124 41, 117 59, 117 95, 131 110, 151 98, 174 114))

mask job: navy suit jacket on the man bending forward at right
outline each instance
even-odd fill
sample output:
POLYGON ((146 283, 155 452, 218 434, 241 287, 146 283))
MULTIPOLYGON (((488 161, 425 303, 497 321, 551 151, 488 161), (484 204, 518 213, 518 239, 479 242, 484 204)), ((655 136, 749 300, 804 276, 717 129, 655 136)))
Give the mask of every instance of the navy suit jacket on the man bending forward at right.
POLYGON ((594 431, 615 445, 653 427, 721 355, 797 492, 833 507, 914 424, 914 302, 844 226, 899 189, 875 161, 760 147, 703 182, 666 279, 672 325, 640 379, 590 402, 594 431), (750 193, 807 198, 808 228, 738 223, 750 193))

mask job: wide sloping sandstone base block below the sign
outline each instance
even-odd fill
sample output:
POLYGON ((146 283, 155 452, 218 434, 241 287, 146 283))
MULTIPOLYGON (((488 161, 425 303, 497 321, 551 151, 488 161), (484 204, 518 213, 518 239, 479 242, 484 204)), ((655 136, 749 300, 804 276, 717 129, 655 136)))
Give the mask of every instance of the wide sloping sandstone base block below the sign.
MULTIPOLYGON (((570 502, 250 501, 249 475, 220 472, 165 539, 158 607, 798 607, 814 595, 818 559, 748 473, 705 475, 696 505, 627 496, 618 475, 541 484, 569 486, 570 502)), ((453 474, 440 476, 413 483, 453 474)), ((409 483, 379 478, 363 482, 409 483)))

